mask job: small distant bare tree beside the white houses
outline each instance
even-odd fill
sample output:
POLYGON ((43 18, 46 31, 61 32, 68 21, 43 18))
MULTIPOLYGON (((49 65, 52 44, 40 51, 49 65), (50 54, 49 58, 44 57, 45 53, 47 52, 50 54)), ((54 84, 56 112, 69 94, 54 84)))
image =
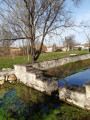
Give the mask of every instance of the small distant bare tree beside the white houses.
POLYGON ((65 37, 63 44, 64 44, 64 46, 67 47, 67 51, 73 50, 74 45, 76 45, 75 36, 70 35, 70 36, 65 37))

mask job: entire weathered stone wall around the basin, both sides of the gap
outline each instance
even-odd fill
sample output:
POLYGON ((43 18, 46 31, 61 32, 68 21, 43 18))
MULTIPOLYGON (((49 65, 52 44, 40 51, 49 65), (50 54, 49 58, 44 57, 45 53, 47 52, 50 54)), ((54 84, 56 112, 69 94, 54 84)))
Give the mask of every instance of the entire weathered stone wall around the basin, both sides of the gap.
MULTIPOLYGON (((78 60, 90 59, 90 54, 74 55, 54 60, 36 62, 34 64, 14 65, 15 75, 20 82, 41 92, 51 94, 58 90, 58 81, 43 76, 44 69, 57 67, 78 60)), ((83 87, 66 85, 59 88, 60 100, 90 110, 90 81, 83 87)))

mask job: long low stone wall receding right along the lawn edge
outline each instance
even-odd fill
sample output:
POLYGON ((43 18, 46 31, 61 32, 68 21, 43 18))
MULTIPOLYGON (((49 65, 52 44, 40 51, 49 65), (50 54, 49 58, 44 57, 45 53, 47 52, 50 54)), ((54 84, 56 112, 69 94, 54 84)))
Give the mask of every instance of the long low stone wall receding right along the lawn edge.
POLYGON ((33 67, 41 70, 45 70, 45 69, 57 67, 60 65, 64 65, 70 62, 76 62, 76 61, 85 60, 85 59, 90 59, 90 54, 73 55, 73 56, 68 56, 68 57, 63 57, 63 58, 58 58, 53 60, 36 62, 33 64, 33 67))

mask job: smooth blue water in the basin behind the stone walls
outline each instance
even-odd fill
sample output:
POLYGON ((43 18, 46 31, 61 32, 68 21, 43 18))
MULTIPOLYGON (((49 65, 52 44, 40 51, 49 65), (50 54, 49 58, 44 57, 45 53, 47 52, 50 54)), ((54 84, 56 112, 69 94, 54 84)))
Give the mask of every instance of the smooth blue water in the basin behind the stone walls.
POLYGON ((70 75, 62 80, 59 80, 59 87, 65 84, 83 86, 83 84, 88 81, 90 81, 90 69, 84 70, 82 72, 70 75))

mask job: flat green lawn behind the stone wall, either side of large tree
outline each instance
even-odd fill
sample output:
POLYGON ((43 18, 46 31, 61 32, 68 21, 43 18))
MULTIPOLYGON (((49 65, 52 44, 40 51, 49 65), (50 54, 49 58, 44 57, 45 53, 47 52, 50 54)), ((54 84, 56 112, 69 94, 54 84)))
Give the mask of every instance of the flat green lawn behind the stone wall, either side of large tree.
MULTIPOLYGON (((52 52, 52 53, 42 53, 37 61, 43 61, 43 60, 49 60, 49 59, 55 59, 55 58, 61 58, 69 56, 70 54, 86 54, 89 53, 88 51, 68 51, 68 52, 52 52)), ((13 68, 14 64, 22 64, 27 63, 28 58, 27 56, 17 56, 15 58, 12 57, 1 57, 0 58, 0 69, 2 68, 13 68)), ((31 57, 30 57, 31 62, 31 57)))

